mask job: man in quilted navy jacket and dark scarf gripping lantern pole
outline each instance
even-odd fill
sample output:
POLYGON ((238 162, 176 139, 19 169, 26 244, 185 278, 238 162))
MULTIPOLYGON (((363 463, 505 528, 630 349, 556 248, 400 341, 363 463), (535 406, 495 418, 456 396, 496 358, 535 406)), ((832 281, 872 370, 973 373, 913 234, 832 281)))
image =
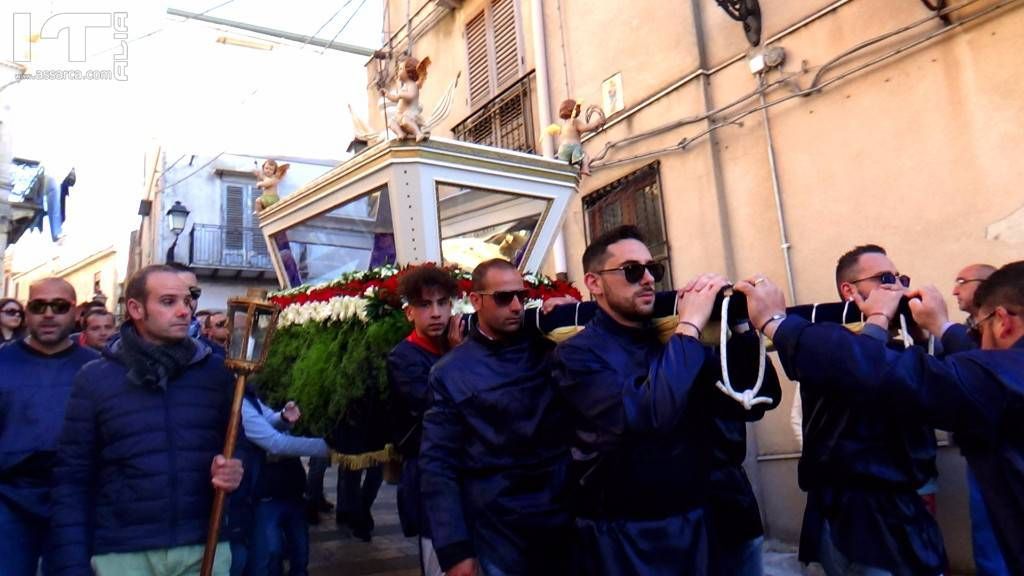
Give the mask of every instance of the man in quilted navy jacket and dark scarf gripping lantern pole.
MULTIPOLYGON (((76 376, 57 447, 52 571, 98 576, 198 570, 213 489, 242 463, 220 451, 233 377, 189 338, 187 283, 169 266, 128 280, 130 322, 76 376)), ((226 575, 230 550, 217 547, 226 575)))

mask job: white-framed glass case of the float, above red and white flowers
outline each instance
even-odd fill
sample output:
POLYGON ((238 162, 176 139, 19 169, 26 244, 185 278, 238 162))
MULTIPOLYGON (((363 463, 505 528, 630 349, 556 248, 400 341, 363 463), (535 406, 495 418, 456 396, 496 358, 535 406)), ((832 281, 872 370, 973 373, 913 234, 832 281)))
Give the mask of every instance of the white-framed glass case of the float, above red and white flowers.
POLYGON ((367 149, 260 212, 282 287, 385 263, 539 272, 575 193, 568 164, 431 137, 367 149))

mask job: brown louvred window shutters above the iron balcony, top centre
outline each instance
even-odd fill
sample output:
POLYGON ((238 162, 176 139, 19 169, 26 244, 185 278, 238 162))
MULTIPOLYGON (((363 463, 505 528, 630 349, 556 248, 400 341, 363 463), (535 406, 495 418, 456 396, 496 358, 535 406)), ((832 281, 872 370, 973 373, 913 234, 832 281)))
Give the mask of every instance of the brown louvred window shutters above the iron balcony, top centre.
POLYGON ((517 0, 492 0, 466 23, 469 105, 476 108, 522 76, 517 0))

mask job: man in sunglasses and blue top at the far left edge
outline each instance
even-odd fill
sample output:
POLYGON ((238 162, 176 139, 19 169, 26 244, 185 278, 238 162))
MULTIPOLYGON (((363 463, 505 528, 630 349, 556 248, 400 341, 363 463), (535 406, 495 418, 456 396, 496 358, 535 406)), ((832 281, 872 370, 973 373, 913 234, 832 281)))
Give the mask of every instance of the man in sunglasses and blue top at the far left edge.
POLYGON ((75 289, 67 281, 34 283, 25 312, 29 335, 0 348, 0 572, 12 576, 36 574, 65 406, 75 374, 98 358, 69 338, 75 289))

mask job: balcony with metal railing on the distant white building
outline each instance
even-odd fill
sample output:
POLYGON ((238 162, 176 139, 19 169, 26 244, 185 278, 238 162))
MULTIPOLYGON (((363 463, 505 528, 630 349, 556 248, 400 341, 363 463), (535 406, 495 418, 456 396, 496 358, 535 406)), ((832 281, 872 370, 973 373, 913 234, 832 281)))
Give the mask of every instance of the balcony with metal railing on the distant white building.
POLYGON ((195 224, 188 240, 188 264, 201 276, 273 278, 259 229, 195 224))

